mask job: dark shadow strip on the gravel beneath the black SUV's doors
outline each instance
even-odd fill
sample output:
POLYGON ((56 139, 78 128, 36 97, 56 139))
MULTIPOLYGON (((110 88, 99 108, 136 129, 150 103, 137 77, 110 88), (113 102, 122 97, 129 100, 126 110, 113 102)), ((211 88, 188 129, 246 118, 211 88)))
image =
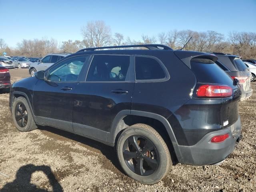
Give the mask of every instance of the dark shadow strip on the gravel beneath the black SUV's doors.
MULTIPOLYGON (((107 145, 105 145, 101 142, 92 140, 90 138, 86 138, 86 137, 83 137, 83 136, 80 136, 80 135, 77 135, 77 134, 74 134, 74 133, 70 133, 70 132, 60 130, 60 129, 57 129, 57 128, 53 128, 53 127, 49 127, 49 126, 38 126, 38 129, 45 130, 45 131, 57 134, 59 136, 62 136, 62 137, 68 138, 70 140, 74 140, 76 142, 79 142, 81 144, 87 145, 89 147, 92 147, 96 150, 100 150, 100 152, 106 158, 108 158, 108 160, 110 160, 110 162, 116 167, 116 169, 119 171, 119 172, 117 172, 118 174, 120 174, 120 172, 121 172, 122 174, 126 175, 124 173, 122 167, 119 164, 119 161, 118 161, 117 156, 116 156, 116 150, 115 150, 114 147, 107 146, 107 145)), ((106 168, 108 168, 108 169, 110 169, 114 172, 116 171, 116 170, 113 170, 110 167, 106 166, 106 162, 102 161, 102 164, 104 164, 106 168)))

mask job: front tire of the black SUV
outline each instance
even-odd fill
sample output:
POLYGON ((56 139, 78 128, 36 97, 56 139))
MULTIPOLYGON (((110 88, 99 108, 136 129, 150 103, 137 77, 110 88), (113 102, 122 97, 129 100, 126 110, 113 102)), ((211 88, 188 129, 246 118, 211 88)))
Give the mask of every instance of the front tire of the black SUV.
POLYGON ((28 132, 37 129, 31 110, 28 106, 28 102, 24 97, 18 97, 14 100, 12 104, 12 119, 16 128, 22 132, 28 132), (19 108, 21 112, 18 112, 17 108, 19 108), (16 121, 16 118, 20 120, 16 121), (22 120, 24 124, 22 124, 22 120))

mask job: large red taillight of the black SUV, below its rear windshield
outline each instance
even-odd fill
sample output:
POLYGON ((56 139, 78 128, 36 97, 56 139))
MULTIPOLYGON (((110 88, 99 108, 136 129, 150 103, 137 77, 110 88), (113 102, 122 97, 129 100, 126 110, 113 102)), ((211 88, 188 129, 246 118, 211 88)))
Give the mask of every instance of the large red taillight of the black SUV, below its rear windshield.
POLYGON ((230 97, 232 94, 231 87, 220 85, 202 85, 196 92, 198 97, 230 97))

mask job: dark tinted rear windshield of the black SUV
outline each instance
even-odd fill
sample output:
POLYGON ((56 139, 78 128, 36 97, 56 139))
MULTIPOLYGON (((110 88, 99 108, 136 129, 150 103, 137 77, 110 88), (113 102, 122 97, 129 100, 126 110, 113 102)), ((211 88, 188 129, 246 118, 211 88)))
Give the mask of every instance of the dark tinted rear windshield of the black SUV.
POLYGON ((212 60, 193 58, 190 61, 198 83, 218 83, 233 87, 233 80, 212 60))

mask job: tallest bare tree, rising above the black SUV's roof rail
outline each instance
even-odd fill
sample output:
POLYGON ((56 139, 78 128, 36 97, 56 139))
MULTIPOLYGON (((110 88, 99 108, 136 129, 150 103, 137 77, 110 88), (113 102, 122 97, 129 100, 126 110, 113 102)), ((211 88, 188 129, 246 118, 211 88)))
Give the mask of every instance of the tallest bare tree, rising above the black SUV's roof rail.
POLYGON ((88 22, 81 28, 84 40, 90 47, 102 47, 111 44, 111 30, 104 21, 88 22))

